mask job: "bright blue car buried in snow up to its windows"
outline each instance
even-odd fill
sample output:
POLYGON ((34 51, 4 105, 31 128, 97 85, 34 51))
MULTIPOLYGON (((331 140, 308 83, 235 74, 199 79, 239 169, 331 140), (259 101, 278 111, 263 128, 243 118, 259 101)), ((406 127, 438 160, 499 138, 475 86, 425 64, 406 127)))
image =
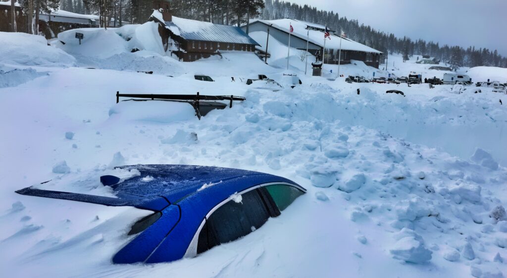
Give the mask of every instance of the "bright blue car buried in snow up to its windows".
POLYGON ((120 182, 101 176, 118 198, 25 188, 22 195, 106 206, 133 206, 154 213, 135 222, 136 235, 114 263, 170 262, 194 257, 237 240, 280 215, 306 192, 292 180, 266 173, 191 165, 133 165, 140 176, 120 182), (142 182, 141 182, 142 179, 142 182))

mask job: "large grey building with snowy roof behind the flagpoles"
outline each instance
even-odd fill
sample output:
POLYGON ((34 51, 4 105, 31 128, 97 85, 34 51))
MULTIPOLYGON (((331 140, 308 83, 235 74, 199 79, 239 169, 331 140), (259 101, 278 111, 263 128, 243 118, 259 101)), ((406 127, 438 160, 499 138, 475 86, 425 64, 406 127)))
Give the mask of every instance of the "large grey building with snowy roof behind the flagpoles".
MULTIPOLYGON (((248 35, 256 41, 263 44, 258 49, 259 52, 266 51, 266 39, 269 28, 269 35, 280 43, 288 45, 289 26, 292 25, 291 48, 306 50, 308 41, 308 52, 315 55, 317 52, 324 51, 324 30, 325 26, 310 22, 294 20, 294 19, 277 19, 277 20, 255 20, 250 22, 248 35)), ((242 27, 246 30, 246 25, 242 27)), ((325 64, 350 64, 351 60, 362 61, 368 66, 379 68, 380 55, 382 52, 353 41, 345 36, 341 38, 341 54, 340 36, 334 33, 334 30, 328 28, 331 33, 331 39, 325 41, 325 53, 320 60, 323 59, 325 64)), ((270 38, 270 39, 271 39, 270 38)), ((268 42, 269 47, 269 42, 268 42)))

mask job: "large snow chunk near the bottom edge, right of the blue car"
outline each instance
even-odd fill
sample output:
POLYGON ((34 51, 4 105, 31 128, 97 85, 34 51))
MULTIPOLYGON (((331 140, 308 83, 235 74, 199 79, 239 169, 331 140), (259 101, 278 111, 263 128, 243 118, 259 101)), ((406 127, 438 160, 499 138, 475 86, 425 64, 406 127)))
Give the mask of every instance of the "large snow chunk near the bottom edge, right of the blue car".
POLYGON ((393 258, 411 263, 425 263, 431 260, 430 250, 414 237, 405 237, 397 241, 389 252, 393 258))

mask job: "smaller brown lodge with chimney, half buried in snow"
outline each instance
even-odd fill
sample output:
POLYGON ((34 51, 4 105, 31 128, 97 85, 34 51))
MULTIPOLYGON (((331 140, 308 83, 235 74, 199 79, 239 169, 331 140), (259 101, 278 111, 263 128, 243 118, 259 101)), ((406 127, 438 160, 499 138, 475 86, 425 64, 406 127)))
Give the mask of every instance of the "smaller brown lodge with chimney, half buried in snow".
MULTIPOLYGON (((155 8, 166 7, 165 3, 155 2, 155 8)), ((259 46, 239 27, 173 17, 170 10, 163 8, 149 20, 159 23, 164 50, 171 51, 179 61, 193 62, 223 51, 254 53, 259 46)))

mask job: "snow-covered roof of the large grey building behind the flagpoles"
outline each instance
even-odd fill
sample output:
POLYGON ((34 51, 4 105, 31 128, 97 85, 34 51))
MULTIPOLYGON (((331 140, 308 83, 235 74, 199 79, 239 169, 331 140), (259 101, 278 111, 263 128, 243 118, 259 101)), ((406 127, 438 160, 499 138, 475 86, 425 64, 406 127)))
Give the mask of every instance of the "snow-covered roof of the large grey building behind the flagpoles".
MULTIPOLYGON (((317 31, 317 30, 308 30, 308 23, 304 21, 299 20, 293 20, 293 19, 275 19, 275 20, 255 20, 250 22, 251 24, 254 24, 256 22, 262 22, 267 25, 271 25, 272 27, 281 30, 283 32, 288 33, 289 25, 292 24, 292 27, 294 31, 291 35, 297 36, 301 39, 306 40, 307 39, 307 31, 308 31, 308 41, 320 45, 320 47, 323 47, 324 45, 324 32, 323 31, 317 31)), ((325 27, 318 24, 312 24, 310 27, 312 28, 320 28, 325 27), (317 26, 317 27, 315 27, 317 26)), ((340 48, 340 36, 332 34, 331 39, 327 39, 325 41, 325 48, 326 49, 335 49, 338 50, 340 48)), ((360 52, 368 52, 368 53, 378 53, 382 54, 382 52, 373 49, 371 47, 368 47, 367 45, 364 45, 362 43, 359 43, 357 41, 351 40, 349 38, 343 37, 342 39, 342 50, 349 50, 349 51, 360 51, 360 52)))

